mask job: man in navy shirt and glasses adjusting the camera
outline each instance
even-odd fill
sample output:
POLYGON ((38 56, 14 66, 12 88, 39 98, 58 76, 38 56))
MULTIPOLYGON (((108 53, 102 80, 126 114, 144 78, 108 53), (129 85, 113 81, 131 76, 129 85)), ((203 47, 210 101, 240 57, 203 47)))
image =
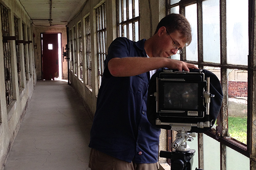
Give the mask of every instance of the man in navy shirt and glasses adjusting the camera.
POLYGON ((180 14, 163 18, 148 40, 112 42, 91 130, 92 170, 158 169, 160 129, 147 119, 148 82, 152 70, 197 69, 168 58, 190 42, 189 22, 180 14))

